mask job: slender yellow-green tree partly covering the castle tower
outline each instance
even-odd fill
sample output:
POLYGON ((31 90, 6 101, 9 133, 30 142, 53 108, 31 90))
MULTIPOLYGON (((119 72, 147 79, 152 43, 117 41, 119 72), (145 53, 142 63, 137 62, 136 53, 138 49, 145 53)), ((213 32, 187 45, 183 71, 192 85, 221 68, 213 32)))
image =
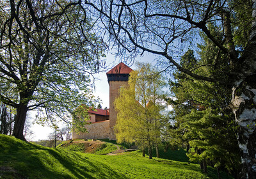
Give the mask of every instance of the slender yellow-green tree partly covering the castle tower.
POLYGON ((148 148, 152 159, 152 146, 161 142, 165 82, 148 63, 138 63, 138 69, 131 72, 128 86, 120 89, 115 100, 116 139, 119 143, 136 143, 141 150, 148 148))

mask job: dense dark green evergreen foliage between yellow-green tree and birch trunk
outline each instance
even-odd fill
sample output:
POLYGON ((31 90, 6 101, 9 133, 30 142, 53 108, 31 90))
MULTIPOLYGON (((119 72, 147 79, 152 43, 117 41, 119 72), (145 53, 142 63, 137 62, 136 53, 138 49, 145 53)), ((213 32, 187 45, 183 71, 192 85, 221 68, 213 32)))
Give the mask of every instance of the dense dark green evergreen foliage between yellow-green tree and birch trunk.
MULTIPOLYGON (((212 31, 216 29, 212 27, 212 31)), ((202 49, 199 52, 200 60, 196 60, 193 51, 189 50, 182 56, 180 63, 195 68, 201 75, 225 77, 225 74, 220 73, 220 70, 226 68, 225 63, 216 64, 215 59, 212 59, 218 51, 212 42, 205 38, 205 44, 199 47, 202 49), (202 61, 212 65, 201 66, 202 61)), ((221 62, 222 58, 227 57, 220 54, 218 58, 221 62)), ((195 148, 194 153, 188 153, 193 162, 211 161, 214 167, 225 167, 229 173, 236 175, 240 157, 236 139, 237 125, 228 110, 230 89, 218 83, 198 81, 180 72, 173 75, 175 81, 170 82, 170 86, 176 100, 172 112, 175 125, 170 127, 171 143, 178 146, 185 144, 187 149, 195 148)))

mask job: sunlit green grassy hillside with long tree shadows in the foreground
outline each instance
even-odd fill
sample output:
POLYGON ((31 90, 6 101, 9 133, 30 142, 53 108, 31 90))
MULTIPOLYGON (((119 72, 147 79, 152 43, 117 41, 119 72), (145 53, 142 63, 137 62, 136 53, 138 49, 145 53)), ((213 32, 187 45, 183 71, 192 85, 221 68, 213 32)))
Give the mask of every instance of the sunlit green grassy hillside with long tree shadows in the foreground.
MULTIPOLYGON (((140 152, 95 155, 47 148, 0 134, 0 178, 217 178, 197 164, 148 160, 140 152)), ((225 177, 223 177, 225 178, 225 177)))

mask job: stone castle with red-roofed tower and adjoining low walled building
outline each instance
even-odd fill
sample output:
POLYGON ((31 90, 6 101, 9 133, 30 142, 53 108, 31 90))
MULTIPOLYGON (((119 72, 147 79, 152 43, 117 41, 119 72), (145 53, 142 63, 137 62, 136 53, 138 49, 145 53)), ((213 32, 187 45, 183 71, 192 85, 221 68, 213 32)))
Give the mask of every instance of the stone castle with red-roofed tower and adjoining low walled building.
POLYGON ((119 95, 119 89, 128 85, 129 74, 132 69, 124 63, 119 63, 107 72, 109 83, 109 110, 95 109, 88 111, 90 125, 85 128, 88 133, 73 132, 73 139, 110 139, 115 140, 115 123, 117 113, 115 111, 115 98, 119 95))

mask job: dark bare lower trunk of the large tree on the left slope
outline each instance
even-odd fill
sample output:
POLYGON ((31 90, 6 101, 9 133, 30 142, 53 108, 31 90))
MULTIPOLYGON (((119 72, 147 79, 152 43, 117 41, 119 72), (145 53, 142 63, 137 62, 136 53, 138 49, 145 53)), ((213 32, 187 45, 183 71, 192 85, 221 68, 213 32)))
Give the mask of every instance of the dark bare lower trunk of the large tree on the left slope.
POLYGON ((28 106, 24 104, 19 104, 17 107, 17 114, 14 119, 12 136, 15 136, 17 139, 21 139, 22 141, 26 141, 23 135, 23 130, 24 130, 27 112, 28 112, 28 106))

